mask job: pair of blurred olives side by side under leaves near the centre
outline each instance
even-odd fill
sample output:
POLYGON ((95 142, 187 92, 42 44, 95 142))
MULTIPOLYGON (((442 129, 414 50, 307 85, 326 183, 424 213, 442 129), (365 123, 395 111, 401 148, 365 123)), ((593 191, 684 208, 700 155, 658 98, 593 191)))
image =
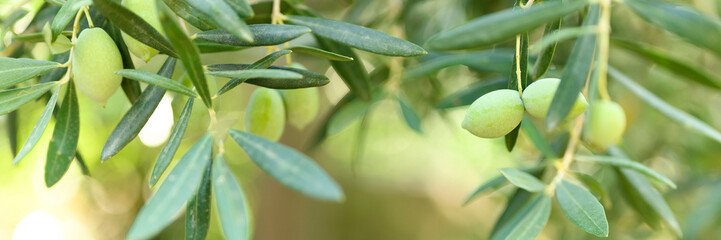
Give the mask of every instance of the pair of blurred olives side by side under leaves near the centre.
POLYGON ((245 129, 277 141, 283 135, 286 119, 297 129, 303 129, 317 115, 317 88, 275 90, 261 87, 250 96, 245 129))

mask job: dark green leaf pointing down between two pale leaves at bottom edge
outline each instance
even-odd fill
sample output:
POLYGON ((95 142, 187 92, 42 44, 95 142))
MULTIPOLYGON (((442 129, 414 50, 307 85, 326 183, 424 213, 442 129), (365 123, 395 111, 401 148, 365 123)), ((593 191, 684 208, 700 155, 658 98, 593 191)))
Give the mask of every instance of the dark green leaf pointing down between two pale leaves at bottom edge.
POLYGON ((204 240, 210 225, 211 171, 213 162, 208 161, 203 179, 195 196, 185 208, 185 239, 204 240))

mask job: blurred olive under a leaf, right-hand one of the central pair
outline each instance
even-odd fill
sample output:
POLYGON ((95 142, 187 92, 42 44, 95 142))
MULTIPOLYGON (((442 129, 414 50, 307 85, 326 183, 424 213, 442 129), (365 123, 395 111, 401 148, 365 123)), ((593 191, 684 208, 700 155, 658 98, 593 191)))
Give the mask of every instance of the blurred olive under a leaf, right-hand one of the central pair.
POLYGON ((318 115, 318 88, 282 90, 285 112, 290 125, 303 129, 318 115))

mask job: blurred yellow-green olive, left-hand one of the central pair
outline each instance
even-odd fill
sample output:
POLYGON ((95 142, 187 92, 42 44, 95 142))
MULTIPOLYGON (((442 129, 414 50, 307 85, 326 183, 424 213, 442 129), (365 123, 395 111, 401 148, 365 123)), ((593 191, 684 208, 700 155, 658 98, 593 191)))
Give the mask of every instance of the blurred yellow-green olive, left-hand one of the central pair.
POLYGON ((258 88, 245 110, 245 130, 278 141, 285 128, 283 98, 275 89, 258 88))

